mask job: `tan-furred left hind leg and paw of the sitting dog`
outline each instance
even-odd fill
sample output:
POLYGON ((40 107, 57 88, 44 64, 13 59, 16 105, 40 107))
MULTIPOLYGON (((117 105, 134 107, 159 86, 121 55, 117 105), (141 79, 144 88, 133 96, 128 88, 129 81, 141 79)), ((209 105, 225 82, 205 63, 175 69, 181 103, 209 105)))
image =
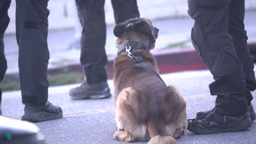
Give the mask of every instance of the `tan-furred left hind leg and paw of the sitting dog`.
POLYGON ((146 124, 138 123, 138 119, 135 118, 135 112, 138 109, 138 104, 134 102, 137 101, 136 95, 138 92, 132 88, 125 88, 118 95, 115 107, 115 122, 118 131, 113 137, 116 140, 144 141, 148 137, 146 124))

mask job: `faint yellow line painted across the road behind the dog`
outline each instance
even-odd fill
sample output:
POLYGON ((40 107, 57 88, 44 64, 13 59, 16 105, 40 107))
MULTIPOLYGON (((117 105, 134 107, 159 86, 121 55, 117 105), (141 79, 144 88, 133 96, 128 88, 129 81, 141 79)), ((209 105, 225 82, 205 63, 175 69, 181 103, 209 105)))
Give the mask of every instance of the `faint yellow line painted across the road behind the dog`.
MULTIPOLYGON (((185 100, 191 100, 191 99, 200 99, 200 98, 207 98, 211 97, 211 94, 198 94, 198 95, 191 95, 189 97, 184 97, 185 100)), ((102 112, 108 112, 108 111, 114 111, 114 106, 112 107, 106 107, 103 109, 96 109, 86 112, 76 112, 76 113, 67 113, 64 115, 64 117, 75 117, 75 116, 84 116, 89 114, 95 114, 95 113, 102 113, 102 112)))

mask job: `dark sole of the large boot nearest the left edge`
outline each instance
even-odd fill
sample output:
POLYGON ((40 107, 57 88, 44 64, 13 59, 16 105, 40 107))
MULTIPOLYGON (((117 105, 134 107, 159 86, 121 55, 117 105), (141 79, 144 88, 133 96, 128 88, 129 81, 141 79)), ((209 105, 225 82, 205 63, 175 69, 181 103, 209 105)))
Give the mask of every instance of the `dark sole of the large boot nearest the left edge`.
POLYGON ((44 111, 39 111, 39 112, 26 112, 24 116, 21 117, 22 121, 28 121, 32 123, 37 123, 37 122, 44 122, 44 121, 50 121, 52 119, 58 119, 62 118, 63 113, 48 113, 44 111))

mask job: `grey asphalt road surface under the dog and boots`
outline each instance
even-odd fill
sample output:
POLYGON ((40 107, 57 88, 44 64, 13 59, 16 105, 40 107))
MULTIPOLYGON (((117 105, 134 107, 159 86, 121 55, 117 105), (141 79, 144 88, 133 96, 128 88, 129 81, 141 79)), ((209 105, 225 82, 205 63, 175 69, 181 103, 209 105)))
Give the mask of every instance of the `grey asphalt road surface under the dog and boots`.
MULTIPOLYGON (((161 75, 167 85, 175 86, 187 101, 188 118, 194 118, 197 111, 210 110, 214 106, 214 96, 208 91, 212 82, 208 70, 185 71, 161 75)), ((108 81, 113 94, 113 81, 108 81)), ((64 117, 54 121, 36 123, 45 135, 48 144, 79 143, 124 143, 112 140, 116 130, 113 97, 101 100, 70 100, 68 90, 77 85, 49 88, 51 103, 62 107, 64 117)), ((256 95, 256 92, 253 92, 256 95)), ((255 100, 252 101, 256 107, 255 100)), ((20 119, 24 106, 21 105, 20 91, 3 93, 3 115, 20 119)), ((256 143, 256 123, 247 131, 211 135, 195 135, 186 131, 178 143, 256 143)), ((136 142, 146 143, 146 142, 136 142)))

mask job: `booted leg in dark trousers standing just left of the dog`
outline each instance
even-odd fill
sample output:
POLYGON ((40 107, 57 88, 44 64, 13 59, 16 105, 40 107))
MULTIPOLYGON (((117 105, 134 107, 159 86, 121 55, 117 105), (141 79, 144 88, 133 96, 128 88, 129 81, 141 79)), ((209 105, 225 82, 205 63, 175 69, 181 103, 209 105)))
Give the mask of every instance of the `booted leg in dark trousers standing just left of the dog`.
POLYGON ((107 98, 110 89, 107 84, 106 22, 104 0, 76 0, 79 20, 83 31, 81 37, 80 63, 85 71, 86 81, 69 91, 71 99, 107 98))

